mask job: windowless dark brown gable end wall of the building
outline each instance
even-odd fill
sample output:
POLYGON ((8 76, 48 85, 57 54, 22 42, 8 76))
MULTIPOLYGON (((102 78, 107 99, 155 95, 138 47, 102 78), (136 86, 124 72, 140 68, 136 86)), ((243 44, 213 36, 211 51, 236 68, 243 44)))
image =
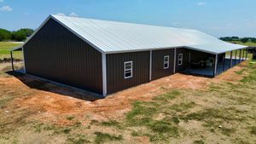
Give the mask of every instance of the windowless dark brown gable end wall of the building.
POLYGON ((50 19, 24 46, 26 72, 102 95, 102 54, 50 19))

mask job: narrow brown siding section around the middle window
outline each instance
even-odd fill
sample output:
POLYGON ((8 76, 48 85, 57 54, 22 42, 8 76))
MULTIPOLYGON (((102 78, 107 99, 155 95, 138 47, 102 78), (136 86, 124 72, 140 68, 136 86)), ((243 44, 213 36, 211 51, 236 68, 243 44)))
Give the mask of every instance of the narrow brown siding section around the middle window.
POLYGON ((174 49, 152 51, 152 80, 173 74, 174 49), (164 56, 169 55, 169 68, 164 69, 164 56))

